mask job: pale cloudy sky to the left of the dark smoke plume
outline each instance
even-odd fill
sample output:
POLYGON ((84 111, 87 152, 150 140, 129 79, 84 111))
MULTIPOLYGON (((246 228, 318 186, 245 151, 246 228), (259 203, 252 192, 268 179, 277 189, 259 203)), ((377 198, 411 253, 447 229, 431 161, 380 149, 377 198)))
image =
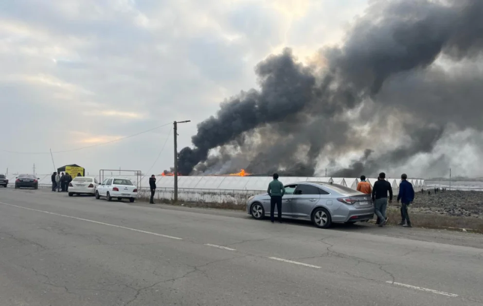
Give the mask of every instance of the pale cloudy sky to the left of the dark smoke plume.
POLYGON ((367 0, 21 0, 0 3, 0 173, 160 173, 253 68, 340 42, 367 0), (161 148, 167 140, 164 150, 161 148), (67 151, 67 152, 61 152, 67 151), (161 152, 161 154, 160 154, 161 152), (35 154, 33 154, 35 153, 35 154), (159 157, 155 166, 153 163, 159 157))

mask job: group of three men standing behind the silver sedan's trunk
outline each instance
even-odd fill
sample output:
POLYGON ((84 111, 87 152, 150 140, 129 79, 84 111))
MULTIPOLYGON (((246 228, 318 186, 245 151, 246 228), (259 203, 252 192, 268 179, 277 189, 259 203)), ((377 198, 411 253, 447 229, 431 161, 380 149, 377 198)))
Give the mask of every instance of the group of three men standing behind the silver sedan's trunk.
MULTIPOLYGON (((377 216, 376 224, 381 227, 386 225, 389 219, 386 214, 387 205, 388 203, 393 203, 393 187, 391 186, 391 183, 386 181, 386 173, 379 173, 379 177, 377 177, 374 187, 371 187, 371 184, 366 181, 366 177, 362 175, 357 190, 372 195, 374 213, 377 216)), ((399 222, 398 225, 412 227, 408 213, 408 206, 414 201, 414 188, 408 181, 408 176, 405 173, 401 175, 401 183, 399 184, 397 203, 399 203, 399 201, 401 201, 401 222, 399 222)))

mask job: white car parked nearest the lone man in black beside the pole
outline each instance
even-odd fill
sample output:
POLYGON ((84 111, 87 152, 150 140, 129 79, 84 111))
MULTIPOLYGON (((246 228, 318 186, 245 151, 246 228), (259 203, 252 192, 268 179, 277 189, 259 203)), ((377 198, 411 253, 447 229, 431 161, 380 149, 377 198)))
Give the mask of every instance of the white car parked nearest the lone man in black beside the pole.
POLYGON ((96 199, 101 197, 106 197, 107 201, 112 201, 112 198, 117 198, 118 201, 129 199, 132 203, 138 197, 138 189, 130 179, 111 177, 97 187, 96 199))

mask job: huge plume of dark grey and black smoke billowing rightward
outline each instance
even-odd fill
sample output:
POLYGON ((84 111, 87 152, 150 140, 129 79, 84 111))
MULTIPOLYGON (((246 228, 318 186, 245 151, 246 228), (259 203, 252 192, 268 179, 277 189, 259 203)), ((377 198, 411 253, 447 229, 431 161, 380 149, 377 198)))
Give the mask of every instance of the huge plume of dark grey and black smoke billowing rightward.
POLYGON ((245 158, 250 172, 298 175, 313 175, 321 156, 367 149, 333 173, 358 176, 431 153, 448 123, 481 130, 482 16, 482 0, 373 1, 319 61, 304 66, 285 49, 259 63, 260 89, 228 99, 198 124, 194 148, 179 152, 179 172, 214 167, 208 154, 219 147, 245 158), (346 118, 361 107, 359 118, 346 118), (380 153, 384 146, 371 138, 387 131, 355 136, 354 126, 387 125, 390 116, 401 123, 397 134, 411 139, 406 144, 380 153))

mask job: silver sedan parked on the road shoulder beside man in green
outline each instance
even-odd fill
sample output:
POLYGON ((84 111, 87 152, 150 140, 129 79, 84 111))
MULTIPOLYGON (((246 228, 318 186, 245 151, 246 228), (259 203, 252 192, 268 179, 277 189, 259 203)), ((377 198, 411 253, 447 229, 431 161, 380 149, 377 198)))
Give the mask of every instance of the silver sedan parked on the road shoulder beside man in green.
MULTIPOLYGON (((286 185, 285 190, 282 218, 308 220, 317 227, 328 228, 334 222, 367 222, 374 217, 371 195, 342 185, 300 182, 286 185)), ((247 201, 247 212, 258 220, 269 216, 268 193, 251 196, 247 201)))

